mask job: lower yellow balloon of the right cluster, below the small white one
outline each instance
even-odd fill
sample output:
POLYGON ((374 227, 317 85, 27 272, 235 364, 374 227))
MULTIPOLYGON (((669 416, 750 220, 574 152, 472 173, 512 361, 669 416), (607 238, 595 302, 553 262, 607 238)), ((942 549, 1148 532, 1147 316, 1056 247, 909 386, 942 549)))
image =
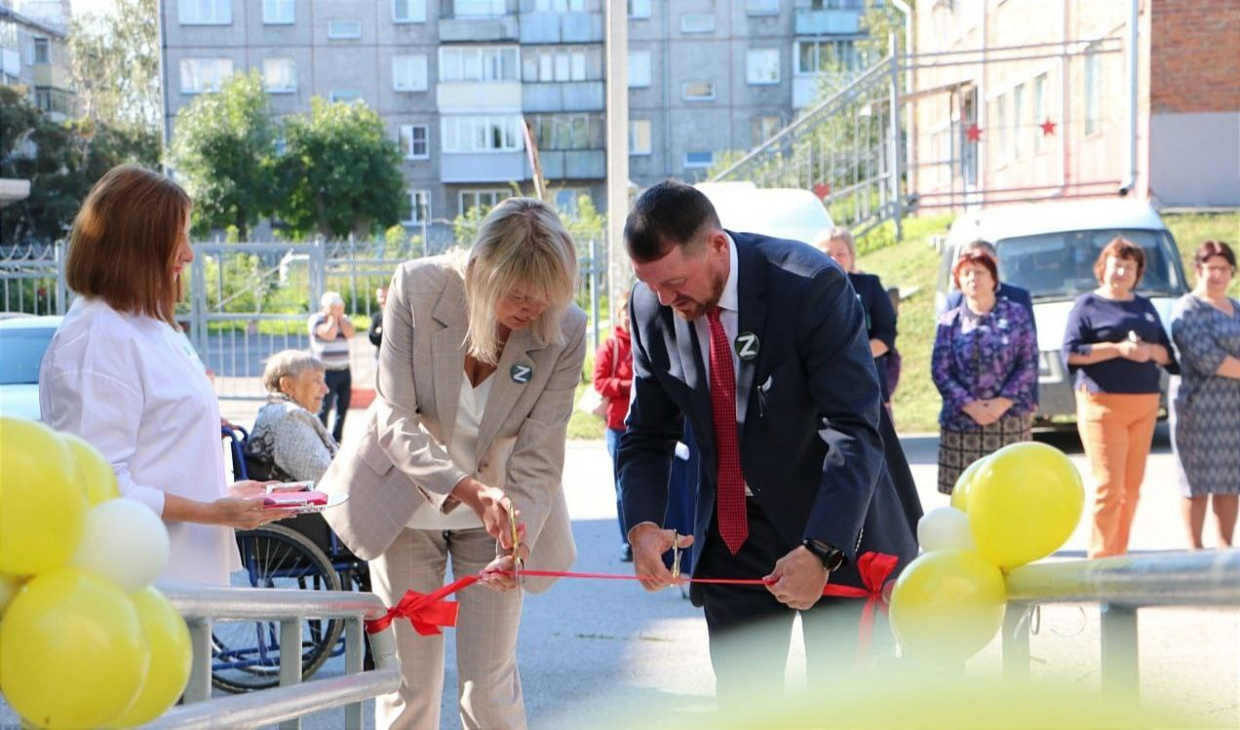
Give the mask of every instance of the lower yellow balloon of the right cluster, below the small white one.
POLYGON ((998 568, 973 550, 936 550, 916 558, 892 591, 892 631, 910 657, 962 663, 1003 625, 1007 585, 998 568))

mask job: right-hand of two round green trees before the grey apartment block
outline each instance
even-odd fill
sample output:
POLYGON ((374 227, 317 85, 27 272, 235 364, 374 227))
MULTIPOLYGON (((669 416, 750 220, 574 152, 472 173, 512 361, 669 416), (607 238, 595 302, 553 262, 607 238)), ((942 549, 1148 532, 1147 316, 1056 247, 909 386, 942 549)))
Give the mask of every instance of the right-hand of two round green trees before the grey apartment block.
POLYGON ((401 221, 408 206, 401 152, 373 109, 316 97, 285 134, 277 214, 294 234, 365 237, 401 221))

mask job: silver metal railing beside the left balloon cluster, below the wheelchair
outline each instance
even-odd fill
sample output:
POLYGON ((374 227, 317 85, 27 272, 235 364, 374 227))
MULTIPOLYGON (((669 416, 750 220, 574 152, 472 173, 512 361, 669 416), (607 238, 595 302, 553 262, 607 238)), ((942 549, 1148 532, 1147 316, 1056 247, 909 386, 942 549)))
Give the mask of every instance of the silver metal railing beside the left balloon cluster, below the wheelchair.
POLYGON ((279 723, 281 730, 298 730, 301 716, 343 706, 343 726, 361 730, 362 703, 396 692, 401 685, 391 627, 366 637, 374 669, 362 672, 362 622, 387 611, 373 594, 172 585, 160 589, 190 625, 193 666, 185 704, 172 708, 148 728, 258 728, 279 723), (300 657, 301 622, 306 618, 345 621, 345 677, 301 684, 301 662, 281 662, 280 687, 211 698, 211 627, 216 621, 279 622, 280 656, 300 657))

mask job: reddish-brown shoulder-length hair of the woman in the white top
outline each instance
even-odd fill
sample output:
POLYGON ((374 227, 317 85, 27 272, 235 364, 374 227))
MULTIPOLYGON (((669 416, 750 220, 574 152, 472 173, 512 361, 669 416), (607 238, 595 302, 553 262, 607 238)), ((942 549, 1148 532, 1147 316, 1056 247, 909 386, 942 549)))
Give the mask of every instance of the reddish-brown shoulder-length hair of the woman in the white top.
POLYGON ((138 165, 109 170, 73 221, 64 281, 117 311, 175 322, 181 280, 174 258, 190 218, 190 196, 138 165))

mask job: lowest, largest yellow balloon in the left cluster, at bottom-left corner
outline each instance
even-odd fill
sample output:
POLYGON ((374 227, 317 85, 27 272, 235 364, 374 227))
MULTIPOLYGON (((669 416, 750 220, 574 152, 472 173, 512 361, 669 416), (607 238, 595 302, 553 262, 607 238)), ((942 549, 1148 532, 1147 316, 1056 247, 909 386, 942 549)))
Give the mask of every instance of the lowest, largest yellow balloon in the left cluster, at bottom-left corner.
POLYGON ((0 623, 0 684, 36 728, 98 728, 143 688, 150 647, 115 584, 77 568, 32 579, 0 623))

